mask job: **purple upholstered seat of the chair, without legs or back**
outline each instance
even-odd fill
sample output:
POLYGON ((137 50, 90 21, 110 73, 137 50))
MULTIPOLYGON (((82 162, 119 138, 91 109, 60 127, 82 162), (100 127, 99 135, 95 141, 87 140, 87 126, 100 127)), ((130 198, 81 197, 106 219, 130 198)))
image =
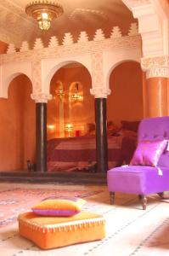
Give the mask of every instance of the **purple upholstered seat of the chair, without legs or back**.
POLYGON ((152 166, 121 166, 107 172, 109 191, 149 195, 169 190, 169 169, 152 166))

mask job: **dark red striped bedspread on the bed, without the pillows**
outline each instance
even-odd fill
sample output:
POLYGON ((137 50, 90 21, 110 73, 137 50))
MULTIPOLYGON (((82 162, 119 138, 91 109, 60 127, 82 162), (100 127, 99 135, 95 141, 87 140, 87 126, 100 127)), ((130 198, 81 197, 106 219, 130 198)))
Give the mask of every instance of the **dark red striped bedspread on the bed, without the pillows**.
MULTIPOLYGON (((109 167, 121 159, 122 137, 108 137, 109 167)), ((48 172, 82 169, 96 162, 95 136, 55 138, 48 141, 48 172)))

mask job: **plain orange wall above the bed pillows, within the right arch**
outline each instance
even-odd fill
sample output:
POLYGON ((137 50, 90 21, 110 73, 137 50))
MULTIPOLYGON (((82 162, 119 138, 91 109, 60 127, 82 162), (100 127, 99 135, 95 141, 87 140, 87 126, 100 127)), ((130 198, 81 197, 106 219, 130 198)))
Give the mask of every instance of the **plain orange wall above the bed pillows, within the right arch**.
POLYGON ((143 73, 140 65, 127 61, 115 67, 110 75, 111 95, 107 100, 107 119, 120 125, 121 120, 144 117, 143 73))

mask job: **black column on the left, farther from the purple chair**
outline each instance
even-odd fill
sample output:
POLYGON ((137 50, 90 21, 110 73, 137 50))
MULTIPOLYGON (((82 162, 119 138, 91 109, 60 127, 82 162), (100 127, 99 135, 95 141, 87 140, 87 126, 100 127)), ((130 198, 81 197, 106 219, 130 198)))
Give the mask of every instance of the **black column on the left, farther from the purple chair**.
POLYGON ((36 103, 37 172, 47 172, 47 103, 36 103))

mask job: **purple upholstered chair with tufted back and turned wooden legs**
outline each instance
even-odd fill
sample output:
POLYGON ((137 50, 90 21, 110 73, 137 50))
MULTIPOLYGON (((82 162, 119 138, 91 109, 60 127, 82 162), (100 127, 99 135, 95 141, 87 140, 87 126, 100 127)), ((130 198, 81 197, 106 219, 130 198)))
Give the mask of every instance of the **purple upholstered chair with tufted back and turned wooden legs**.
MULTIPOLYGON (((169 116, 143 119, 138 127, 138 142, 145 140, 169 140, 169 116)), ((110 169, 107 172, 110 203, 114 204, 115 192, 138 195, 144 210, 147 195, 156 193, 165 198, 164 191, 169 190, 169 151, 164 150, 157 167, 121 166, 110 169)))

